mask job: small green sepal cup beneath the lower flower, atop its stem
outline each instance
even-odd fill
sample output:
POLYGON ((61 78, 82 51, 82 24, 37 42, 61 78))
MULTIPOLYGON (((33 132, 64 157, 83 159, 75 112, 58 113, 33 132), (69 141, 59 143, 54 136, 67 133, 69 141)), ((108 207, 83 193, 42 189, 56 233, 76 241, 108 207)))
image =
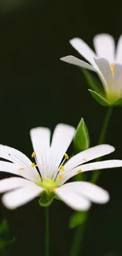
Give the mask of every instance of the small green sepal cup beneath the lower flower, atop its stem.
POLYGON ((43 207, 50 206, 53 200, 54 200, 54 192, 43 191, 43 193, 41 193, 39 198, 39 205, 43 207))

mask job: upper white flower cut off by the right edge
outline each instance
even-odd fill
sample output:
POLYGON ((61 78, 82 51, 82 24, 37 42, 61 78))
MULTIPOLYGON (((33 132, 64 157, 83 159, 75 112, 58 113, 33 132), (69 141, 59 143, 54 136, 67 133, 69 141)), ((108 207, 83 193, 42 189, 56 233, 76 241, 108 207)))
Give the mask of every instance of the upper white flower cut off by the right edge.
MULTIPOLYGON (((61 61, 97 72, 105 90, 105 97, 100 95, 100 99, 103 99, 102 105, 120 105, 119 100, 122 99, 122 35, 116 47, 113 36, 95 35, 93 43, 96 53, 82 39, 74 38, 70 40, 70 43, 90 64, 72 55, 61 58, 61 61)), ((91 93, 94 98, 99 98, 96 92, 91 91, 91 93)))

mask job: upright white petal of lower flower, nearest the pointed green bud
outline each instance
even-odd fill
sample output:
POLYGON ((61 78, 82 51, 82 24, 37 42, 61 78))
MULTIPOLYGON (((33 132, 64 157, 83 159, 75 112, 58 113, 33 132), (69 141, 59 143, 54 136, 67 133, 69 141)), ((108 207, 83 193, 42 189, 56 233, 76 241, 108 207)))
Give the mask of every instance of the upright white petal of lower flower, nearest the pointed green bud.
POLYGON ((67 124, 57 124, 51 143, 50 178, 54 179, 61 160, 67 151, 76 129, 67 124))

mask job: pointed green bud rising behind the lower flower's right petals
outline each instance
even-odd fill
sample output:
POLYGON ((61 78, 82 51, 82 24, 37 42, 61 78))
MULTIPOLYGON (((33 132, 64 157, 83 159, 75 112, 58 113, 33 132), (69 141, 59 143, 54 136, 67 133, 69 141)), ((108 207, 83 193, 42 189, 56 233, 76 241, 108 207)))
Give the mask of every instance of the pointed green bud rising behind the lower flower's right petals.
POLYGON ((76 135, 73 143, 76 153, 87 150, 87 148, 90 146, 89 132, 83 118, 81 118, 78 127, 76 128, 76 135))

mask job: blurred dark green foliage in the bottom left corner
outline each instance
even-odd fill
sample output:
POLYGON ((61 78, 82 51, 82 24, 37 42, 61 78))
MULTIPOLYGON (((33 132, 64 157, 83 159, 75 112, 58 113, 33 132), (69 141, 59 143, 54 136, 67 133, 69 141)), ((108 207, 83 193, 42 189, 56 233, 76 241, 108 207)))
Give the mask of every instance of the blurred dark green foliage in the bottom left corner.
POLYGON ((15 237, 13 239, 9 238, 9 226, 6 220, 2 221, 0 224, 0 255, 6 255, 6 247, 15 242, 15 237))

